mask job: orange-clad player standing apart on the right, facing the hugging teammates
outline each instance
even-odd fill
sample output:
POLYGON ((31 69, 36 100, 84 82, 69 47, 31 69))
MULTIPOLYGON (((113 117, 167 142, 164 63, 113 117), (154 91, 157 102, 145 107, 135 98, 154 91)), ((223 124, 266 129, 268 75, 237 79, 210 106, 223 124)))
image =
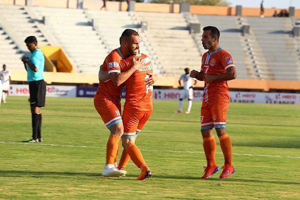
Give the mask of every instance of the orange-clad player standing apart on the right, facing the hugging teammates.
POLYGON ((231 162, 231 140, 225 127, 229 105, 227 80, 236 78, 236 70, 231 55, 219 46, 219 35, 219 30, 214 26, 203 28, 201 41, 204 49, 208 49, 208 51, 202 56, 201 70, 190 72, 190 77, 204 80, 201 133, 207 166, 204 167, 205 173, 201 178, 209 178, 219 170, 214 160, 216 144, 212 133, 213 127, 224 155, 223 171, 219 177, 229 177, 235 170, 231 162))

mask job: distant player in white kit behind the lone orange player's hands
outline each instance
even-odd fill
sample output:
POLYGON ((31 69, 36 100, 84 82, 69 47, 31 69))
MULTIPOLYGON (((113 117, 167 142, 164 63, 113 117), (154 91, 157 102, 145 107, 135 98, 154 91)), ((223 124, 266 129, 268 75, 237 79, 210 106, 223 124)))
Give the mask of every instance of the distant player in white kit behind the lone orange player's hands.
POLYGON ((188 100, 187 109, 185 111, 186 114, 189 114, 191 108, 191 100, 192 100, 192 87, 196 84, 196 80, 189 76, 189 68, 184 68, 185 74, 182 74, 179 78, 179 88, 181 89, 181 94, 179 97, 179 109, 178 113, 182 112, 182 104, 183 99, 188 100), (181 84, 181 80, 183 80, 183 86, 181 84), (193 82, 193 84, 192 84, 193 82))

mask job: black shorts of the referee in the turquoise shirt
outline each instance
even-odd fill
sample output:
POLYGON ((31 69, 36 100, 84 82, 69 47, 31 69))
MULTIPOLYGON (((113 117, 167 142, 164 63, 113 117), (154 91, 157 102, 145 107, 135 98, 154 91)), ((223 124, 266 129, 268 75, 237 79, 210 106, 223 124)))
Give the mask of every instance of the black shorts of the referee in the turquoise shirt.
POLYGON ((46 83, 43 79, 30 81, 30 106, 43 107, 45 106, 46 83))

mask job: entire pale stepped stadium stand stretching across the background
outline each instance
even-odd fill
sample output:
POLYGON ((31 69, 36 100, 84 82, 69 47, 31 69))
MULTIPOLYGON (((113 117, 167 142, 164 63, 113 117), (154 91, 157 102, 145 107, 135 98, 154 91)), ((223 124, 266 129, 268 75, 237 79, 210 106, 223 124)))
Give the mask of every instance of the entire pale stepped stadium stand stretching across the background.
POLYGON ((75 72, 96 74, 106 54, 119 46, 122 30, 133 28, 140 33, 140 50, 152 59, 155 72, 178 76, 184 67, 199 69, 206 51, 201 32, 189 34, 189 23, 197 22, 201 27, 215 25, 220 29, 221 47, 232 54, 237 78, 300 79, 300 39, 291 31, 298 19, 293 17, 0 5, 0 19, 0 58, 10 69, 23 70, 19 61, 26 50, 23 39, 35 35, 40 45, 62 46, 75 72), (242 32, 244 24, 250 26, 248 34, 242 32))

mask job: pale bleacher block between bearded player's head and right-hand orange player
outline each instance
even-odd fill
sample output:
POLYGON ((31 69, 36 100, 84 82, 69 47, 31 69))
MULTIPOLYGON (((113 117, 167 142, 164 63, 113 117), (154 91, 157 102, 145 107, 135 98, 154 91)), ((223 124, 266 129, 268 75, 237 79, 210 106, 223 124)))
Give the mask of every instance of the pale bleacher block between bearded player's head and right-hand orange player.
POLYGON ((179 76, 183 68, 199 66, 200 52, 188 33, 183 14, 151 12, 130 14, 135 23, 147 22, 147 29, 140 33, 161 74, 179 76))

